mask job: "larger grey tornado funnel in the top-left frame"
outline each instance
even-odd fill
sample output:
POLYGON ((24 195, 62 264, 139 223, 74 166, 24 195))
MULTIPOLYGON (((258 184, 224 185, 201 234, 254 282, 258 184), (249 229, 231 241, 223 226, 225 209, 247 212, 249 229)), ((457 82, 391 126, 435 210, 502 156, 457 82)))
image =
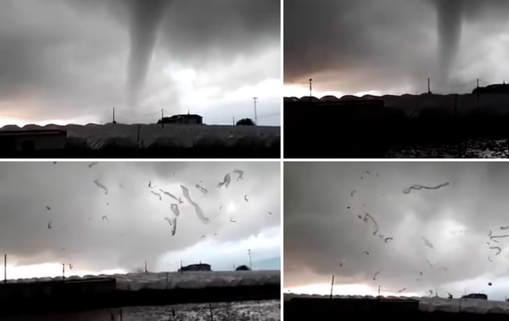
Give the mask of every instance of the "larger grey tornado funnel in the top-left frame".
POLYGON ((165 10, 173 0, 132 0, 130 9, 130 55, 128 61, 127 103, 136 107, 157 42, 165 10))

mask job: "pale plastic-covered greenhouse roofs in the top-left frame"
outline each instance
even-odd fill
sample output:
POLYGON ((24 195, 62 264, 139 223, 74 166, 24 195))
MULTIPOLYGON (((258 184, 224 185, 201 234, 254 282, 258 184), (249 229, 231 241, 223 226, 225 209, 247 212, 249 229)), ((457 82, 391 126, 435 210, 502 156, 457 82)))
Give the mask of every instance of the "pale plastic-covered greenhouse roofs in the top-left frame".
POLYGON ((5 130, 66 130, 68 145, 102 149, 115 144, 124 148, 180 147, 191 148, 195 145, 225 146, 262 144, 266 147, 280 141, 280 127, 272 126, 208 126, 166 124, 87 124, 82 125, 15 125, 3 126, 5 130))

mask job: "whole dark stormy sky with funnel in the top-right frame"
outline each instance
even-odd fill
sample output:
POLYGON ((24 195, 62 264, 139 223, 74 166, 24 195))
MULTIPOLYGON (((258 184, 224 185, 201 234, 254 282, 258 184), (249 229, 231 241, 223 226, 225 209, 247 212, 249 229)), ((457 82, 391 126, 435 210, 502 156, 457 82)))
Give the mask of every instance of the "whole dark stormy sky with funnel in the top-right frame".
POLYGON ((294 0, 285 96, 471 92, 509 81, 509 1, 294 0))

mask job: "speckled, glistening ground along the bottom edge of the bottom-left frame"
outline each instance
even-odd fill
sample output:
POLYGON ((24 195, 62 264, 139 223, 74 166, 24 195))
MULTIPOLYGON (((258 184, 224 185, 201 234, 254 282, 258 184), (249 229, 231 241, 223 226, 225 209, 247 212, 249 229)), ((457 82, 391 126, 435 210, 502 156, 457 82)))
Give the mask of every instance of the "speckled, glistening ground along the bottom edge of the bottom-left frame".
POLYGON ((280 301, 220 302, 213 304, 178 304, 172 306, 132 306, 82 313, 27 315, 8 321, 209 321, 211 320, 276 321, 280 320, 280 301))

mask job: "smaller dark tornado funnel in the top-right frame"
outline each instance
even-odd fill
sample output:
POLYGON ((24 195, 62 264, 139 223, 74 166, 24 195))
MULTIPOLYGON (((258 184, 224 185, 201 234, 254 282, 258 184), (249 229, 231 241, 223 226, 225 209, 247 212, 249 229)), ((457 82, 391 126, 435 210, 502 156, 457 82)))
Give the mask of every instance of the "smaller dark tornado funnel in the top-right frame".
POLYGON ((447 84, 462 36, 464 0, 435 0, 439 31, 439 76, 447 84))

